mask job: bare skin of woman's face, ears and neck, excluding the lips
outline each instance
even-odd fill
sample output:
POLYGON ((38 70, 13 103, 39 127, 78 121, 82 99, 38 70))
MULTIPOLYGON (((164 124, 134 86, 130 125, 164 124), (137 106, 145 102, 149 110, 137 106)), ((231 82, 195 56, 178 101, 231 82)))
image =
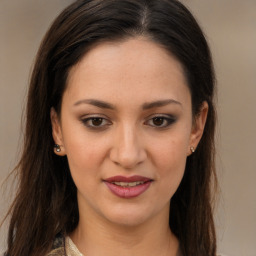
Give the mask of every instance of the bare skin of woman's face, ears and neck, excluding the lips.
POLYGON ((81 253, 177 254, 170 200, 207 110, 203 103, 193 120, 180 63, 146 38, 99 44, 71 69, 61 115, 52 109, 51 119, 55 153, 67 156, 77 186, 80 219, 70 236, 81 253), (104 182, 117 175, 147 177, 150 186, 122 198, 104 182))

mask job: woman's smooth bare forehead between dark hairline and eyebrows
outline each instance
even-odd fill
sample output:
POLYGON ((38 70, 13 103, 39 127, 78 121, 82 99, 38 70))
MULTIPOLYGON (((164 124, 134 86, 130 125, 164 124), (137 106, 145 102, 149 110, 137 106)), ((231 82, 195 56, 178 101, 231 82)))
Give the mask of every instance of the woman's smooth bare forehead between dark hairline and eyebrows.
POLYGON ((71 98, 144 101, 166 94, 181 100, 188 93, 179 61, 146 38, 95 46, 70 70, 65 92, 71 98))

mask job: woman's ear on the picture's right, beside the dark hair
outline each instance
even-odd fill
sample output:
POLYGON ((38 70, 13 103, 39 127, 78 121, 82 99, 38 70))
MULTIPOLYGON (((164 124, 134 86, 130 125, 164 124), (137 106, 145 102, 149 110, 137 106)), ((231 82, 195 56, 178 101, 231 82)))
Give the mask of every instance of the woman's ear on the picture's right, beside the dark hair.
POLYGON ((198 143, 200 142, 200 139, 203 136, 208 109, 209 109, 208 103, 204 101, 200 108, 200 112, 194 118, 192 130, 190 134, 190 144, 188 149, 188 155, 193 153, 193 150, 196 149, 198 143))

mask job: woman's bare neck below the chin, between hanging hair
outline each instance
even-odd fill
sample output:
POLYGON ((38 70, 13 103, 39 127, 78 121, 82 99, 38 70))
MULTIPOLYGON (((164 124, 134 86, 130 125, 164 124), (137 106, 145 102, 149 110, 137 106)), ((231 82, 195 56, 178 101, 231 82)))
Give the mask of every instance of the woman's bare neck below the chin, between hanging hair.
MULTIPOLYGON (((87 215, 88 216, 88 215, 87 215)), ((176 256, 179 243, 169 228, 169 211, 136 225, 119 225, 103 220, 83 218, 70 235, 85 256, 176 256)))

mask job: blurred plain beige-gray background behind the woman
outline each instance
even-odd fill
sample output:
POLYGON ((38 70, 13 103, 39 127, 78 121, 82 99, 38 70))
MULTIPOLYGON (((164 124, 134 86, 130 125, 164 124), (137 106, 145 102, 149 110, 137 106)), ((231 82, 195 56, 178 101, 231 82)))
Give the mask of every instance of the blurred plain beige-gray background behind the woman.
MULTIPOLYGON (((71 2, 0 0, 0 183, 18 159, 21 115, 39 43, 56 15, 71 2)), ((207 35, 218 79, 219 252, 256 256, 256 1, 182 2, 207 35)), ((10 199, 8 193, 0 195, 1 218, 10 199)), ((0 248, 4 237, 2 230, 0 248)))

